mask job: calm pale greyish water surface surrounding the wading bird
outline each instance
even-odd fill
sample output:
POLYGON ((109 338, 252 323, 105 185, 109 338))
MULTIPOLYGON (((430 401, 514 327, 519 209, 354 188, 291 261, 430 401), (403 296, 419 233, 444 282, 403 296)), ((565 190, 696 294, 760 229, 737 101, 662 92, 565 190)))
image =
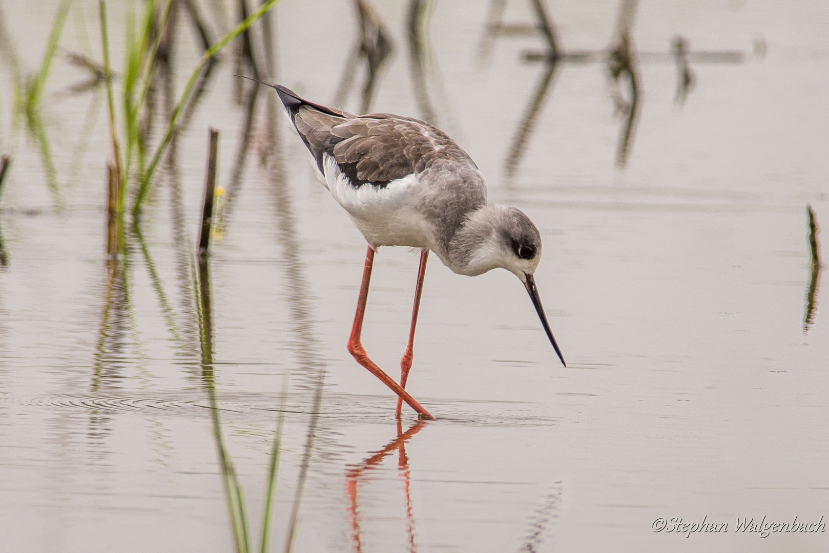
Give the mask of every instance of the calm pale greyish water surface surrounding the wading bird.
MULTIPOLYGON (((196 3, 224 28, 216 2, 196 3)), ((616 2, 548 3, 561 51, 617 43, 616 2)), ((407 411, 396 424, 393 396, 345 347, 365 243, 302 144, 282 124, 269 142, 264 90, 244 142, 230 51, 110 277, 101 90, 69 95, 86 75, 56 61, 43 108, 50 188, 36 141, 12 132, 4 58, 0 148, 14 163, 0 203, 2 551, 233 551, 219 452, 258 547, 280 413, 270 551, 826 549, 822 530, 763 538, 735 519, 829 518, 829 318, 810 289, 820 274, 806 211, 829 221, 827 6, 640 2, 638 102, 619 167, 628 75, 615 83, 589 56, 524 61, 544 39, 526 25, 487 36, 484 2, 436 2, 419 72, 409 7, 375 4, 395 53, 372 109, 433 119, 477 161, 492 200, 536 222, 536 279, 568 368, 515 277, 467 279, 433 260, 408 389, 439 420, 407 411), (190 253, 208 125, 221 129, 226 190, 209 268, 212 380, 190 253), (272 147, 265 167, 259 152, 272 147), (720 531, 655 532, 660 518, 720 531)), ((100 59, 95 2, 82 5, 61 46, 83 51, 85 22, 100 59)), ((24 71, 55 11, 2 3, 24 71)), ((535 17, 507 2, 501 21, 535 17)), ((279 80, 332 102, 356 28, 348 4, 284 0, 279 80)), ((114 39, 118 63, 122 50, 114 39)), ((198 55, 182 23, 177 90, 198 55)), ((360 108, 362 78, 344 108, 360 108)), ((385 248, 372 279, 364 343, 392 375, 416 268, 409 251, 385 248)))

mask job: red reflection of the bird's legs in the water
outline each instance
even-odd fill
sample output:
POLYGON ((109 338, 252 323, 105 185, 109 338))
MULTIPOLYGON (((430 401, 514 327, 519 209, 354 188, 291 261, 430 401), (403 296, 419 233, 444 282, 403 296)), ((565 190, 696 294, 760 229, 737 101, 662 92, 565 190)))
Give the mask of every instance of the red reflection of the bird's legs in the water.
POLYGON ((397 420, 397 436, 388 444, 371 457, 366 458, 362 463, 349 468, 346 472, 346 492, 349 500, 349 511, 351 512, 351 541, 354 545, 354 551, 361 553, 361 528, 360 528, 360 501, 357 495, 360 485, 360 479, 369 468, 376 467, 381 461, 397 450, 397 470, 399 477, 403 482, 403 494, 406 502, 406 535, 409 541, 409 551, 414 553, 417 551, 417 545, 414 541, 414 510, 411 502, 411 472, 409 468, 409 456, 406 454, 405 444, 414 434, 417 434, 427 424, 425 420, 418 420, 410 426, 408 430, 403 432, 403 423, 400 419, 397 420))

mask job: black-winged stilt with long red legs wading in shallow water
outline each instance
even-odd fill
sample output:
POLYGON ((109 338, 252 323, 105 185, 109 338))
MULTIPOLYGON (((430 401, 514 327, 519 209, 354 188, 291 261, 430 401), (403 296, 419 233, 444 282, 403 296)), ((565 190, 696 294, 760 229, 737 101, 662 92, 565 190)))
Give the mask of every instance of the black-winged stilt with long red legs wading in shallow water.
POLYGON ((481 172, 452 138, 418 119, 348 114, 302 99, 284 86, 269 86, 279 94, 325 186, 368 242, 348 351, 399 396, 396 415, 405 401, 419 415, 434 420, 404 390, 412 365, 414 327, 429 250, 458 274, 477 276, 498 267, 516 274, 566 366, 533 279, 541 260, 541 235, 529 217, 515 207, 487 201, 481 172), (400 384, 371 361, 360 341, 371 267, 381 245, 420 249, 400 384))

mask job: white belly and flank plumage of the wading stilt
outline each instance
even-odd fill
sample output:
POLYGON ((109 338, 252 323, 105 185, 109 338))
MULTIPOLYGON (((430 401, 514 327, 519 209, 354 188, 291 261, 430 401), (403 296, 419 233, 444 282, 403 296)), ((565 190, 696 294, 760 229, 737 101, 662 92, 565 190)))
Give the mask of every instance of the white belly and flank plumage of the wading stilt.
POLYGON ((414 173, 385 187, 354 187, 327 153, 323 167, 328 190, 372 247, 404 245, 434 250, 432 225, 416 209, 419 181, 414 173))

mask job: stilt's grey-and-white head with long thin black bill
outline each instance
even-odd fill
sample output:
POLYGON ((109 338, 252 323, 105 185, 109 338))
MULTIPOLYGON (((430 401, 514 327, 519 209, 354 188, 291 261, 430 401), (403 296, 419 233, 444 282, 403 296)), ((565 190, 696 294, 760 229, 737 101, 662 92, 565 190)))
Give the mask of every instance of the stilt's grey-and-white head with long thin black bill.
POLYGON ((515 207, 490 203, 467 217, 452 242, 455 272, 476 276, 500 267, 521 279, 550 343, 566 366, 533 277, 541 261, 541 233, 530 218, 515 207))

